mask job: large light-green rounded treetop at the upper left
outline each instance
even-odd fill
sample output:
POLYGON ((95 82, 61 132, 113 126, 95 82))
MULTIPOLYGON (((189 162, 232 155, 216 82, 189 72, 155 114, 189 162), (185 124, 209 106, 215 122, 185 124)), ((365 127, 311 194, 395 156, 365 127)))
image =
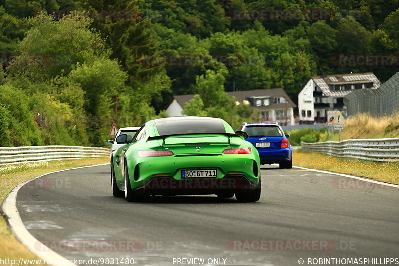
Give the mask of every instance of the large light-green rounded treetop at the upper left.
POLYGON ((24 75, 34 81, 66 76, 77 63, 93 63, 96 58, 106 58, 109 52, 99 34, 91 30, 92 19, 73 12, 55 21, 40 13, 31 18, 31 29, 22 40, 11 75, 24 75))

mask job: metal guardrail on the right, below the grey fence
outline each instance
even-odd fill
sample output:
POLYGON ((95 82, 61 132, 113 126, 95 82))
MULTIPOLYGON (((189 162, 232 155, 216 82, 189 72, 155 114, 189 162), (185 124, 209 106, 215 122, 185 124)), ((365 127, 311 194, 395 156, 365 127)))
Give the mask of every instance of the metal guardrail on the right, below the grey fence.
POLYGON ((302 142, 301 148, 304 151, 326 153, 338 157, 399 162, 399 138, 348 139, 316 143, 302 142))

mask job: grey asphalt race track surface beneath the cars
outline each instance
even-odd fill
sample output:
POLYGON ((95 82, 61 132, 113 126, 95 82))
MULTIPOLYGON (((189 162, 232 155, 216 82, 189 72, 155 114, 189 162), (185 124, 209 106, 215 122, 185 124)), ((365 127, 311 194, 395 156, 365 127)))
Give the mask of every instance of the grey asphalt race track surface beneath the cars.
POLYGON ((33 236, 86 265, 90 258, 296 266, 300 258, 308 265, 308 258, 399 257, 398 188, 295 168, 265 166, 261 174, 256 203, 216 196, 128 203, 112 197, 109 165, 82 168, 26 184, 17 207, 33 236))

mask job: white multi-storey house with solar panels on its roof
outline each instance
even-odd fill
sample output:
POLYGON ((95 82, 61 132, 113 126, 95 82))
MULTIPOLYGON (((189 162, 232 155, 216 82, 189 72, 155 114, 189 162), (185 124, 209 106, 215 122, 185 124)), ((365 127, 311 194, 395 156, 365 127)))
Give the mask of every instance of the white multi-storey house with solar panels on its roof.
POLYGON ((348 93, 379 86, 380 80, 371 72, 311 77, 298 94, 300 124, 327 123, 337 111, 346 116, 348 93))

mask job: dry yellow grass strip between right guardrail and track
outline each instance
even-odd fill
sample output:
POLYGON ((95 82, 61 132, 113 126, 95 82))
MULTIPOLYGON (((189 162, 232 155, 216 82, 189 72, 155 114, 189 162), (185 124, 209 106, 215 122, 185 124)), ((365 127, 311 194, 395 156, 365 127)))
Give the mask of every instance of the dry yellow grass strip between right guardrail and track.
POLYGON ((367 177, 399 185, 398 162, 372 162, 294 150, 293 163, 295 166, 367 177))

